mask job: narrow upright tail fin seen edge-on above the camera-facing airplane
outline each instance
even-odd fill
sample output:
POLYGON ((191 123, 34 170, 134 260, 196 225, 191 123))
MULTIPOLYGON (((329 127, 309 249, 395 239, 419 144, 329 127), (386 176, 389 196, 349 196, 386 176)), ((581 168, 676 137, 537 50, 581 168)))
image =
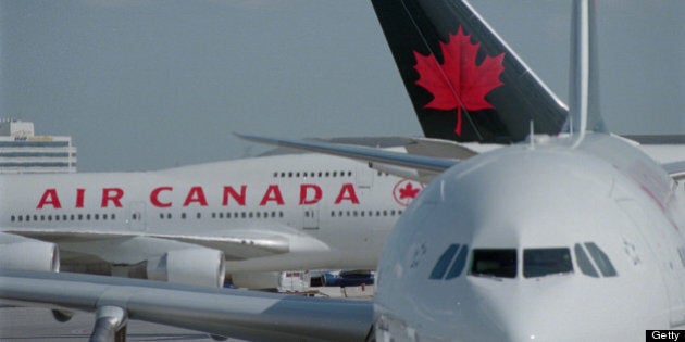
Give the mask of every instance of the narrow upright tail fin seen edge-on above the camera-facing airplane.
POLYGON ((599 64, 594 0, 574 0, 571 17, 569 127, 580 144, 587 130, 606 131, 599 115, 599 64))

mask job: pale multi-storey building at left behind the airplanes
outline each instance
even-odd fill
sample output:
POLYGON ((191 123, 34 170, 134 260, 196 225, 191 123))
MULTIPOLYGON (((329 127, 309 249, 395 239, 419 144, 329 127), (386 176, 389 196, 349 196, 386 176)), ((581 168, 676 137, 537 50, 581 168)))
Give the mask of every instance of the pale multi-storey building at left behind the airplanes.
POLYGON ((0 174, 75 172, 72 137, 36 136, 34 123, 0 121, 0 174))

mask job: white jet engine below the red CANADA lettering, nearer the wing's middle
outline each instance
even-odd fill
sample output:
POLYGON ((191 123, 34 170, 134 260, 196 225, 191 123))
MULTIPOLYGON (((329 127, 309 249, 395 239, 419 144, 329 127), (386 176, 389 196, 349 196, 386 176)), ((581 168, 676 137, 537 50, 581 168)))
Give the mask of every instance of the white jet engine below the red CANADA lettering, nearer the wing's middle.
POLYGON ((148 279, 221 288, 225 277, 224 253, 196 248, 166 252, 148 261, 148 279))

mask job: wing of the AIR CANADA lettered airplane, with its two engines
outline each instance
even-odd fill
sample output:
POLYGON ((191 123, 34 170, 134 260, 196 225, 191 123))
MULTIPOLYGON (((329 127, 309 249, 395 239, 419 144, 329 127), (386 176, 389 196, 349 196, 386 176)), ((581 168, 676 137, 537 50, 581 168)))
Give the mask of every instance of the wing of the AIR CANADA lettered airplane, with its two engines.
MULTIPOLYGON (((116 271, 134 278, 221 287, 227 262, 263 261, 274 255, 329 250, 326 243, 310 235, 274 224, 224 231, 194 229, 164 233, 5 228, 0 232, 0 256, 3 257, 0 268, 116 271)), ((236 265, 232 265, 231 270, 228 274, 235 276, 236 265)), ((275 287, 272 283, 242 286, 275 287)))

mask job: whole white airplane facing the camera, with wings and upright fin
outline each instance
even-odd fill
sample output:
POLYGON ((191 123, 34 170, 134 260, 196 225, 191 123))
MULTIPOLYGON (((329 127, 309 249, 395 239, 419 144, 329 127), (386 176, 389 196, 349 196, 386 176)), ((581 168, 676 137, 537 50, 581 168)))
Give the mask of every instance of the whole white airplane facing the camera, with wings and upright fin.
MULTIPOLYGON (((372 1, 432 27, 457 21, 451 33, 471 40, 496 37, 465 1, 372 1)), ((257 340, 642 341, 646 330, 683 329, 685 189, 675 179, 685 163, 658 164, 601 124, 594 10, 573 1, 565 132, 530 129, 523 143, 462 161, 247 137, 437 174, 386 242, 373 304, 11 270, 0 273, 0 297, 96 312, 98 337, 128 317, 257 340)))

